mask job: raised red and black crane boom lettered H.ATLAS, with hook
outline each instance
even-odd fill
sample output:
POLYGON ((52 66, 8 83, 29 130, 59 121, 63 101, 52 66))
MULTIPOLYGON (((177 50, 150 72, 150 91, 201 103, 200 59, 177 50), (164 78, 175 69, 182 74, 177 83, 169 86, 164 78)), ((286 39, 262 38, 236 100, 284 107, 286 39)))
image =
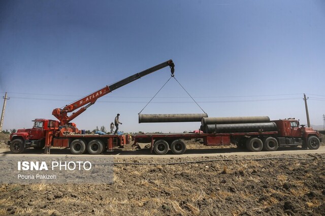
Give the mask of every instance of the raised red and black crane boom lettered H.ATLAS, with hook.
POLYGON ((152 72, 155 72, 155 71, 165 68, 167 66, 169 66, 171 68, 172 76, 174 76, 175 65, 173 63, 173 60, 168 60, 166 62, 163 62, 161 64, 153 66, 147 70, 144 70, 140 73, 136 73, 132 76, 126 77, 125 79, 115 82, 109 86, 106 85, 106 87, 104 87, 103 89, 100 89, 94 93, 91 93, 90 95, 88 95, 84 98, 81 98, 78 101, 73 102, 72 104, 66 105, 63 109, 56 108, 52 111, 52 115, 54 115, 60 121, 60 124, 67 124, 71 120, 76 118, 78 115, 80 115, 81 113, 86 111, 86 109, 88 107, 90 107, 92 104, 94 104, 96 102, 96 100, 99 99, 100 97, 103 97, 104 95, 122 87, 123 85, 133 82, 145 75, 148 75, 152 72), (79 110, 77 110, 76 112, 74 112, 70 116, 68 116, 68 113, 73 112, 76 109, 79 109, 79 110))

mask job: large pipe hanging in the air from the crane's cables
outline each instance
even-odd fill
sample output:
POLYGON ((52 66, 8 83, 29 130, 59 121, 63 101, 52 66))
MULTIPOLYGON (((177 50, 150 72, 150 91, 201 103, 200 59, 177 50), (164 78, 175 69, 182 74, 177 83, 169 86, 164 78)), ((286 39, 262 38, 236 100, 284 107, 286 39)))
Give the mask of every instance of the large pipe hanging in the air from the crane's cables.
POLYGON ((200 122, 208 114, 139 114, 139 123, 148 122, 200 122))

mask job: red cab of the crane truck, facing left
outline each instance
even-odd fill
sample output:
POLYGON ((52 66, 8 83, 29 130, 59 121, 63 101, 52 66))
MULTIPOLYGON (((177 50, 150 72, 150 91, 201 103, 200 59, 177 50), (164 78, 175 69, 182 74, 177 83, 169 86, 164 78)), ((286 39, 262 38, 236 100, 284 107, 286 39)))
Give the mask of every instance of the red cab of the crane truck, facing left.
POLYGON ((35 119, 32 128, 18 129, 10 135, 8 145, 14 153, 22 153, 25 148, 42 149, 45 146, 46 132, 57 131, 59 122, 50 119, 35 119))

